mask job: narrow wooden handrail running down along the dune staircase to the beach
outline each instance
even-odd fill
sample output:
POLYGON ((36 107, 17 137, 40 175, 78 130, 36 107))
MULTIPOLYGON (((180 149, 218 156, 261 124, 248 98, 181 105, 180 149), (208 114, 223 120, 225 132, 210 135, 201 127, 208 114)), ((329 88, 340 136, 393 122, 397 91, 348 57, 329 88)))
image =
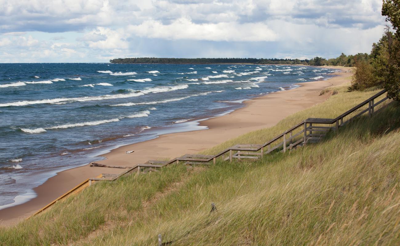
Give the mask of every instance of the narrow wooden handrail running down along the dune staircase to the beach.
MULTIPOLYGON (((326 118, 311 119, 311 118, 309 118, 309 119, 303 120, 302 122, 300 122, 300 123, 298 123, 298 124, 292 126, 291 128, 289 128, 289 129, 286 130, 285 132, 283 132, 283 133, 277 135, 276 137, 272 138, 272 139, 269 140, 268 142, 266 142, 266 143, 264 143, 264 144, 259 144, 259 145, 257 144, 256 146, 259 146, 258 148, 238 148, 238 147, 236 147, 236 146, 232 146, 232 147, 230 147, 230 148, 227 148, 227 149, 225 149, 225 150, 222 150, 221 152, 219 152, 218 154, 215 154, 214 156, 210 156, 209 158, 186 158, 186 157, 177 157, 177 158, 174 158, 174 159, 172 159, 172 160, 166 162, 165 164, 137 164, 137 165, 135 165, 135 166, 129 168, 128 170, 126 170, 126 171, 124 171, 124 172, 118 174, 118 176, 113 177, 113 178, 110 178, 110 179, 101 178, 102 175, 100 175, 100 176, 98 176, 98 177, 96 177, 96 178, 88 178, 88 179, 85 180, 84 182, 78 184, 77 186, 75 186, 74 188, 72 188, 71 190, 69 190, 68 192, 66 192, 65 194, 63 194, 62 196, 58 197, 58 198, 55 199, 54 201, 50 202, 48 205, 46 205, 46 206, 44 206, 43 208, 41 208, 40 210, 38 210, 36 213, 32 214, 32 216, 34 216, 34 215, 36 215, 36 214, 39 214, 40 212, 43 212, 44 210, 50 208, 50 206, 52 206, 53 204, 55 204, 58 200, 61 200, 61 199, 65 198, 66 196, 72 194, 73 192, 79 190, 80 188, 82 188, 82 189, 85 188, 85 185, 86 185, 86 184, 88 184, 87 186, 90 186, 92 181, 114 181, 114 180, 118 179, 120 176, 123 176, 123 175, 125 175, 125 174, 128 174, 129 172, 132 172, 132 171, 135 170, 135 169, 136 169, 136 170, 140 170, 140 169, 138 169, 138 168, 140 168, 140 167, 148 167, 148 168, 156 168, 156 167, 158 167, 158 168, 160 168, 160 167, 163 167, 163 166, 166 166, 166 165, 169 165, 169 164, 178 162, 178 161, 180 161, 180 160, 182 160, 182 161, 194 161, 194 162, 210 162, 211 160, 214 160, 214 161, 215 161, 216 158, 218 158, 218 157, 220 157, 220 156, 222 156, 222 155, 224 155, 224 154, 228 154, 228 153, 229 153, 229 154, 232 154, 232 151, 253 151, 253 152, 256 152, 256 151, 259 151, 259 150, 263 150, 266 146, 272 144, 272 143, 275 142, 276 140, 278 140, 278 139, 280 139, 280 138, 282 138, 282 137, 284 137, 284 136, 286 137, 286 134, 291 133, 291 132, 293 132, 294 130, 296 130, 297 128, 300 128, 300 127, 303 127, 303 126, 304 126, 304 130, 301 130, 300 132, 296 133, 295 135, 290 136, 288 139, 284 139, 282 142, 280 142, 279 144, 277 144, 276 146, 272 147, 272 148, 269 149, 267 152, 265 152, 265 154, 268 154, 268 153, 270 153, 270 152, 272 152, 272 151, 278 149, 280 146, 282 146, 282 145, 284 145, 284 144, 285 144, 284 150, 286 150, 286 143, 288 143, 289 141, 293 140, 294 138, 296 138, 297 136, 299 136, 300 134, 303 133, 303 134, 304 134, 304 140, 303 140, 303 138, 301 138, 301 139, 297 140, 295 143, 290 143, 290 142, 289 142, 289 146, 288 146, 287 148, 289 148, 289 149, 290 149, 290 148, 293 148, 293 147, 297 146, 298 144, 300 144, 301 142, 304 142, 304 141, 307 139, 307 137, 310 136, 310 135, 307 135, 307 134, 306 134, 307 131, 315 131, 315 132, 318 132, 318 129, 312 130, 312 127, 307 128, 307 127, 306 127, 306 124, 307 124, 307 123, 309 123, 309 124, 310 124, 310 123, 311 123, 311 124, 334 124, 334 123, 336 122, 336 128, 338 128, 338 122, 339 122, 339 120, 342 120, 345 116, 348 116, 349 114, 351 114, 352 112, 358 110, 358 109, 361 108, 362 106, 364 106, 364 105, 366 105, 366 104, 369 104, 369 107, 372 106, 372 108, 373 108, 373 107, 377 106, 378 104, 384 102, 386 99, 388 99, 387 97, 385 97, 385 98, 383 98, 382 100, 380 100, 379 102, 377 102, 376 104, 370 103, 370 102, 372 102, 372 100, 374 100, 374 99, 378 98, 379 96, 383 95, 385 92, 386 92, 386 90, 382 90, 382 91, 378 92, 378 93, 375 94, 374 96, 371 96, 371 97, 368 98, 367 100, 361 102, 361 103, 358 104, 357 106, 354 106, 354 107, 351 108, 350 110, 347 110, 346 112, 344 112, 343 114, 339 115, 338 117, 336 117, 336 118, 334 118, 334 119, 326 119, 326 118), (306 131, 306 132, 304 132, 304 131, 306 131)), ((369 108, 366 109, 366 110, 363 110, 360 114, 363 114, 363 113, 367 112, 368 110, 369 110, 369 108)), ((358 114, 358 115, 360 115, 360 114, 358 114)), ((358 115, 357 115, 357 116, 358 116, 358 115)), ((356 116, 355 116, 355 117, 356 117, 356 116)), ((305 142, 304 142, 304 144, 305 144, 305 142)), ((262 151, 261 153, 264 153, 264 152, 262 151)), ((231 157, 232 157, 232 155, 231 155, 231 157)), ((230 158, 230 157, 226 158, 226 160, 228 160, 228 159, 231 159, 231 158, 230 158)), ((30 216, 30 217, 28 217, 28 218, 31 218, 32 216, 30 216)), ((28 218, 27 218, 27 219, 28 219, 28 218)))

